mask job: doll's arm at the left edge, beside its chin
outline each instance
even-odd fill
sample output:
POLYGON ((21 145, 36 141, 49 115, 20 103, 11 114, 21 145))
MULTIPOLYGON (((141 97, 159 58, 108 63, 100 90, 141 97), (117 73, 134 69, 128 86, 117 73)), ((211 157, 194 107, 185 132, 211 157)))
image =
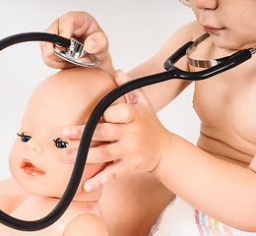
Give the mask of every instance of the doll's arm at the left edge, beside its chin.
POLYGON ((0 209, 11 213, 19 207, 29 195, 14 181, 9 178, 0 182, 0 209))

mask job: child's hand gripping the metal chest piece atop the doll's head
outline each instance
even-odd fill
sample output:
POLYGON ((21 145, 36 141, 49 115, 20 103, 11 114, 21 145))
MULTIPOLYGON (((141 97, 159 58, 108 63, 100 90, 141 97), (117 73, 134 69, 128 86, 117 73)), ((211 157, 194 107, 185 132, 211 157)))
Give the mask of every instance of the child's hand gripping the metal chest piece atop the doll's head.
MULTIPOLYGON (((45 31, 67 38, 77 38, 85 44, 87 52, 96 54, 101 68, 113 72, 111 58, 108 53, 107 37, 90 14, 86 12, 66 13, 55 20, 45 31)), ((47 66, 56 69, 75 67, 74 64, 66 62, 54 54, 52 43, 40 42, 40 48, 42 59, 47 66)))

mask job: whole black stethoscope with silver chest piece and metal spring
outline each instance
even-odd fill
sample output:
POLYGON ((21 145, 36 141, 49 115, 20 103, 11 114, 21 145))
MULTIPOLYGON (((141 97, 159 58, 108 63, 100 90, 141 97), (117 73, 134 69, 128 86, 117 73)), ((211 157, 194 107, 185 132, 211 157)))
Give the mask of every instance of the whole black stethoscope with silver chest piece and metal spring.
MULTIPOLYGON (((54 207, 51 212, 49 212, 41 219, 29 221, 15 218, 0 210, 0 222, 18 230, 35 231, 48 227, 61 217, 61 215, 66 211, 67 207, 69 207, 76 194, 77 188, 84 172, 87 155, 93 134, 96 129, 96 124, 105 109, 120 96, 131 90, 140 89, 171 79, 180 79, 185 81, 202 81, 238 66, 239 64, 250 59, 252 55, 256 52, 256 46, 254 46, 248 49, 237 51, 232 55, 220 59, 193 59, 190 56, 191 53, 196 49, 197 45, 200 42, 202 42, 209 36, 209 33, 205 33, 196 40, 189 41, 181 46, 178 50, 176 50, 164 62, 164 69, 166 70, 165 72, 146 76, 128 82, 116 89, 113 89, 98 102, 85 127, 68 186, 58 205, 54 207), (207 69, 199 72, 186 72, 176 68, 174 64, 185 55, 187 55, 188 62, 191 65, 207 69)), ((68 60, 69 62, 75 63, 79 66, 97 67, 99 65, 99 61, 96 56, 86 53, 84 50, 84 45, 79 41, 75 39, 70 40, 59 35, 46 32, 19 33, 3 38, 0 40, 0 51, 8 46, 26 41, 48 41, 55 45, 64 47, 65 50, 61 50, 56 46, 54 52, 61 58, 68 60)))

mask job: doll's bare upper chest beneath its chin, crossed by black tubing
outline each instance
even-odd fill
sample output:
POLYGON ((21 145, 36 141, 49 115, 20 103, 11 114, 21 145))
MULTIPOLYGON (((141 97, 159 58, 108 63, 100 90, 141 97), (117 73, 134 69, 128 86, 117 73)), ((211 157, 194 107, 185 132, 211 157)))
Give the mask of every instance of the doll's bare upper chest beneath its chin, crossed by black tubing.
MULTIPOLYGON (((48 212, 51 211, 58 203, 57 199, 51 198, 42 198, 42 197, 30 197, 27 201, 25 201, 20 207, 15 209, 12 212, 12 216, 35 220, 39 219, 48 212)), ((71 219, 74 217, 83 214, 83 213, 93 213, 98 217, 101 217, 100 209, 98 207, 98 203, 82 203, 82 202, 72 202, 70 207, 66 210, 66 212, 51 226, 33 232, 26 231, 18 231, 12 228, 9 228, 5 225, 0 224, 0 235, 5 236, 23 236, 23 235, 34 235, 34 236, 62 236, 64 235, 64 230, 71 219)))

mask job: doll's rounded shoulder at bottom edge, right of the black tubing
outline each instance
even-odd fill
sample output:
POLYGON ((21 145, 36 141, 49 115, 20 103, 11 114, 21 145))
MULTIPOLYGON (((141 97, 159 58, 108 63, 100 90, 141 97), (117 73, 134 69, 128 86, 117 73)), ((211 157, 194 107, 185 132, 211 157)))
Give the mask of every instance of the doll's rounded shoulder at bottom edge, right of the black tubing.
POLYGON ((64 236, 107 236, 103 221, 92 213, 84 213, 74 217, 67 225, 64 236))

